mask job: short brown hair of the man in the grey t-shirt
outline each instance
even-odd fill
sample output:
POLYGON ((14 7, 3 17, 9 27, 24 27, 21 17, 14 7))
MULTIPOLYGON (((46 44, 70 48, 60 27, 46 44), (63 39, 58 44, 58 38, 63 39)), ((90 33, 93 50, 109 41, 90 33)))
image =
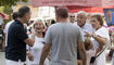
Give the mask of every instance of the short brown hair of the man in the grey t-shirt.
POLYGON ((66 8, 58 8, 55 11, 56 15, 61 18, 67 18, 68 17, 68 11, 66 8))

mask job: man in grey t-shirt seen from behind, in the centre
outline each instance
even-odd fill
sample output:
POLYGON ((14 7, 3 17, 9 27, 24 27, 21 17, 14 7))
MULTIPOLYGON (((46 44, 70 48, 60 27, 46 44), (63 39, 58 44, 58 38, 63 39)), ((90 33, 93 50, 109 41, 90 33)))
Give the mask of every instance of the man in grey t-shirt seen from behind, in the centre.
POLYGON ((51 25, 45 36, 46 44, 39 65, 43 65, 49 51, 50 65, 77 65, 77 43, 79 43, 79 48, 85 51, 83 49, 83 34, 78 26, 67 22, 67 9, 58 8, 55 16, 58 23, 51 25))

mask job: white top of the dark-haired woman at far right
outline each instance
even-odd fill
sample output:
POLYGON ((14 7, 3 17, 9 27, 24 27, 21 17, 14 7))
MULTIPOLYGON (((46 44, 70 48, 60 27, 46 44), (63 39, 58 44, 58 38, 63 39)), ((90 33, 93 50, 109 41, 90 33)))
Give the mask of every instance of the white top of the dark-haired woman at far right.
MULTIPOLYGON (((101 27, 94 34, 100 36, 100 37, 106 38, 106 43, 110 44, 110 36, 109 36, 109 30, 106 28, 101 27)), ((91 41, 93 43, 93 49, 94 50, 98 49, 99 42, 97 40, 94 40, 93 38, 91 38, 91 41)), ((105 57, 106 57, 106 49, 97 57, 93 65, 106 65, 106 58, 105 57)))

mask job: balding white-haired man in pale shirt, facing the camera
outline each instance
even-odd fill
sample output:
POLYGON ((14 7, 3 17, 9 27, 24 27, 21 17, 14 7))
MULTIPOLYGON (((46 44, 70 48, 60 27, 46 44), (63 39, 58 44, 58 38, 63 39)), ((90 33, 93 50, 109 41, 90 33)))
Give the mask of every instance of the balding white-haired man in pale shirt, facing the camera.
POLYGON ((74 23, 74 25, 78 25, 81 28, 84 36, 86 35, 85 31, 88 32, 94 31, 91 24, 87 23, 87 13, 85 11, 79 11, 77 13, 77 22, 74 23))

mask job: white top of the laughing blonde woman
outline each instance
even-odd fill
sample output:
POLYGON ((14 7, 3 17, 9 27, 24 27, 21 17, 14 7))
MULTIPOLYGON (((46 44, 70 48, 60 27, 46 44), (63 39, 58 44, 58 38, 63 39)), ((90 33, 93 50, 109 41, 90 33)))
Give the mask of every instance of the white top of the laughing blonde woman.
MULTIPOLYGON (((29 61, 28 65, 39 65, 42 48, 43 48, 43 38, 38 38, 36 36, 34 47, 30 48, 34 61, 29 61)), ((45 65, 49 65, 48 58, 46 58, 45 65)))

